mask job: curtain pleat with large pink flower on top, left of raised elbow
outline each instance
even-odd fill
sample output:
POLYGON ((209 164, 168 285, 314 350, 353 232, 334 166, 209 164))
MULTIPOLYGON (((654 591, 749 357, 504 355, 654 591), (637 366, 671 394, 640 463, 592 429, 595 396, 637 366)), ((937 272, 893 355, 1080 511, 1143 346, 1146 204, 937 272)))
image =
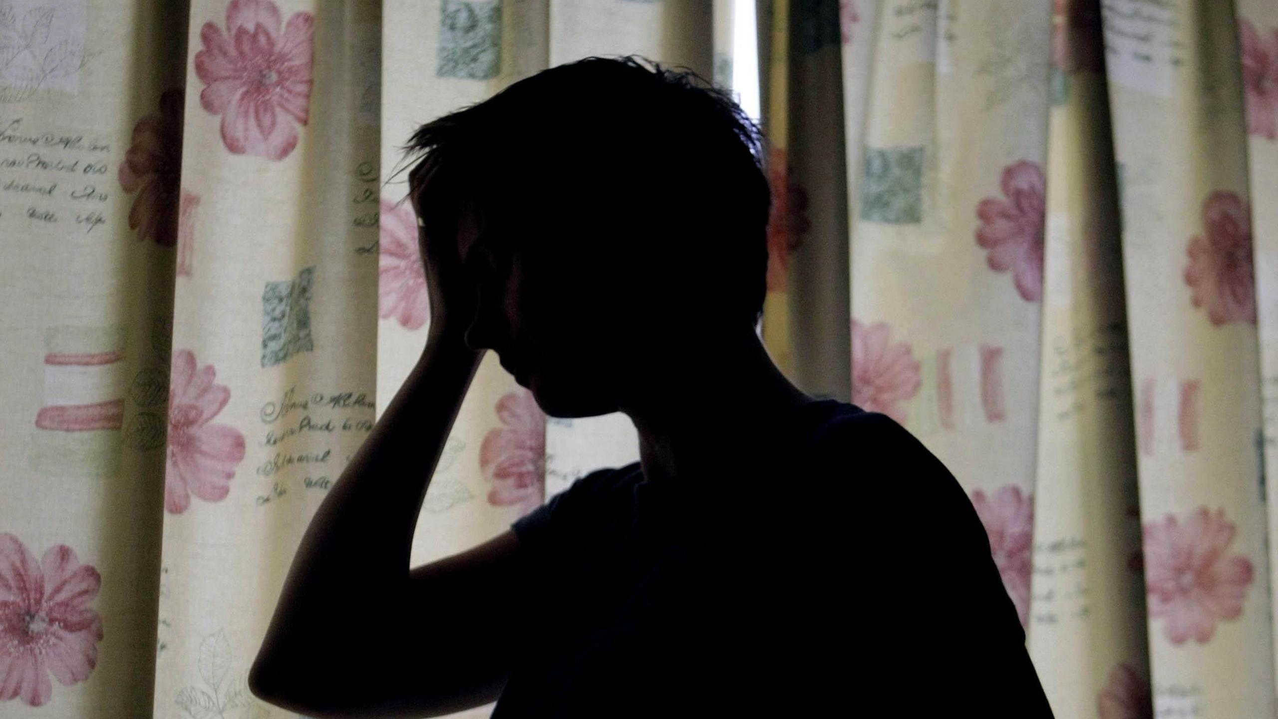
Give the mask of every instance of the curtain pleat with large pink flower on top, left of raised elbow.
POLYGON ((248 668, 374 418, 381 26, 190 3, 156 716, 280 713, 248 668))

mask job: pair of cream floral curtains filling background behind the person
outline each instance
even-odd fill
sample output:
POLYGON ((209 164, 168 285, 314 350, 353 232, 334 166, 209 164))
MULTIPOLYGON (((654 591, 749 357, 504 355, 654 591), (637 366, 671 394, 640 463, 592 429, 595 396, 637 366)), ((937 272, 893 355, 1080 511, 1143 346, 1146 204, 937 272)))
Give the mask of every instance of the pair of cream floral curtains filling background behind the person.
MULTIPOLYGON (((294 716, 248 668, 426 342, 399 146, 592 54, 731 84, 745 10, 778 366, 952 470, 1058 716, 1274 715, 1270 0, 0 0, 0 715, 294 716)), ((412 562, 636 458, 489 353, 412 562)))

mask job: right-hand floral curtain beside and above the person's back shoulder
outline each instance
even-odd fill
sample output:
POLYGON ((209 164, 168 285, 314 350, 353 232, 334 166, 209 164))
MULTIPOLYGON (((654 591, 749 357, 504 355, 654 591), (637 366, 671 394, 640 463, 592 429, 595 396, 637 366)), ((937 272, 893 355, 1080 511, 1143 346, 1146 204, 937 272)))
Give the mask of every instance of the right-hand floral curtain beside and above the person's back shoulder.
POLYGON ((840 12, 852 402, 967 487, 1058 716, 1273 715, 1278 10, 840 12))

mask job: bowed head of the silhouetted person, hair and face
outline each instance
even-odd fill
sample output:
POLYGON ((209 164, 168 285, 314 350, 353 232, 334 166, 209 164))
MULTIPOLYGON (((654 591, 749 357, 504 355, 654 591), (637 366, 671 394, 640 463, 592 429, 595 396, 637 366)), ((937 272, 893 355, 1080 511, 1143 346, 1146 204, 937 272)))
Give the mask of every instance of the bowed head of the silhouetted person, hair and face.
POLYGON ((762 134, 727 91, 647 65, 558 65, 404 146, 427 242, 459 243, 478 273, 468 344, 551 416, 613 412, 643 372, 753 334, 762 313, 762 134))

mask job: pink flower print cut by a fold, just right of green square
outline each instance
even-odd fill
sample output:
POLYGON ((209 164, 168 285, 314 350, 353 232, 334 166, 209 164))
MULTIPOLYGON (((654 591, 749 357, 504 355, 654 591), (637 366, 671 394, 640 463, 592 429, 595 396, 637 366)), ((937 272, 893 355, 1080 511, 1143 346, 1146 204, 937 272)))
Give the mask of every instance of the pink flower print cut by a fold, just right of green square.
POLYGON ((989 249, 989 269, 1012 270, 1016 290, 1028 302, 1043 297, 1043 223, 1047 179, 1038 162, 1020 160, 1003 168, 1003 194, 976 206, 976 244, 989 249))

